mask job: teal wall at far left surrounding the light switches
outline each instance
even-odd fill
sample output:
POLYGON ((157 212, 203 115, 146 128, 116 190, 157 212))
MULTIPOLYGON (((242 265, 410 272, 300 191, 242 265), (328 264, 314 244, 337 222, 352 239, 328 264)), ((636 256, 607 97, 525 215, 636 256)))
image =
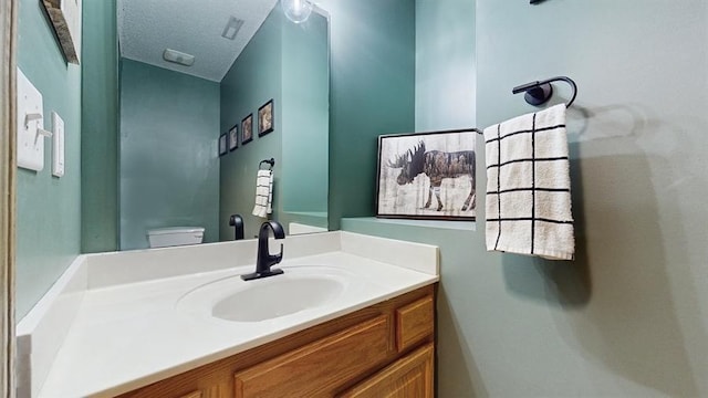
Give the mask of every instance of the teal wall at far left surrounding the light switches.
POLYGON ((44 127, 51 112, 65 124, 65 175, 52 177, 52 143, 44 169, 18 169, 17 316, 22 318, 81 249, 81 67, 67 64, 39 1, 20 1, 18 66, 42 93, 44 127))

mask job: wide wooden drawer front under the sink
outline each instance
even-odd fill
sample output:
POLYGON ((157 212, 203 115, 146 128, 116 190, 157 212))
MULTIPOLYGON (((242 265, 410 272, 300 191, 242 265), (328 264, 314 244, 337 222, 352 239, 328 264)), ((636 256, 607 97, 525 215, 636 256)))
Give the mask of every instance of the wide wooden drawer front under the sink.
POLYGON ((389 317, 381 315, 237 373, 236 397, 317 397, 386 359, 389 317))

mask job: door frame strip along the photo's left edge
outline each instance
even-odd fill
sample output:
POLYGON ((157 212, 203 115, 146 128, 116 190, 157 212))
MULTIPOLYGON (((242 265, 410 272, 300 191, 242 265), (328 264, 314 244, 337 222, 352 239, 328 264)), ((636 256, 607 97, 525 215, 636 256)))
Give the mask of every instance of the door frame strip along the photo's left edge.
POLYGON ((18 0, 0 0, 0 396, 14 397, 15 54, 18 0))

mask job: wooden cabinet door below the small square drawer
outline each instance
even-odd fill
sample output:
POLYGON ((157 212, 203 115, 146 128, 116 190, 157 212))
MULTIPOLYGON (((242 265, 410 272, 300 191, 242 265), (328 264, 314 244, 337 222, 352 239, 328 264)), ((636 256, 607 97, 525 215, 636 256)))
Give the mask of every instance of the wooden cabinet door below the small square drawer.
POLYGON ((433 398, 433 343, 354 386, 344 398, 433 398))

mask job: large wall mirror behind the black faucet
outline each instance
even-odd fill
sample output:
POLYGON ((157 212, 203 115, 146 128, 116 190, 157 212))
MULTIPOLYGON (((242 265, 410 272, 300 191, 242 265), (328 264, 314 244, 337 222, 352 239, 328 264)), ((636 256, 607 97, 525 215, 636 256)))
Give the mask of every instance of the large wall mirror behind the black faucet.
POLYGON ((117 7, 121 250, 148 248, 148 230, 170 227, 202 227, 205 242, 232 240, 231 214, 252 238, 266 221, 251 212, 267 159, 270 218, 292 233, 326 230, 326 14, 315 9, 294 23, 277 0, 117 7), (259 117, 267 104, 272 130, 259 134, 270 129, 259 117))

